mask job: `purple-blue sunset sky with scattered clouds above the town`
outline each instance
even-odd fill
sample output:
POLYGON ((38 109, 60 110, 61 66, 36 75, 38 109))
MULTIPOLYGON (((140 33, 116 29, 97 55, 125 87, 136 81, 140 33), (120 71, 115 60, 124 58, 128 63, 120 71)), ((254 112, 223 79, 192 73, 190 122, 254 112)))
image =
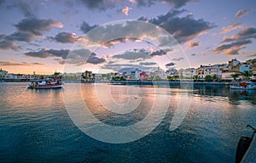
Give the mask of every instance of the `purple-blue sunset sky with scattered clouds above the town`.
POLYGON ((167 70, 256 58, 254 0, 0 0, 9 73, 167 70))

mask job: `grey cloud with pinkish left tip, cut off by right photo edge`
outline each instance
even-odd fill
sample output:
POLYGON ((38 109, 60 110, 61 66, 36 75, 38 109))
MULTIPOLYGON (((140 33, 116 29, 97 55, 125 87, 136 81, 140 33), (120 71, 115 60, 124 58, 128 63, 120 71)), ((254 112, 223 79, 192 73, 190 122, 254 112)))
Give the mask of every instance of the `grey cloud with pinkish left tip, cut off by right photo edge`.
POLYGON ((250 38, 256 38, 256 28, 244 27, 241 31, 231 37, 224 37, 223 42, 241 41, 250 38))

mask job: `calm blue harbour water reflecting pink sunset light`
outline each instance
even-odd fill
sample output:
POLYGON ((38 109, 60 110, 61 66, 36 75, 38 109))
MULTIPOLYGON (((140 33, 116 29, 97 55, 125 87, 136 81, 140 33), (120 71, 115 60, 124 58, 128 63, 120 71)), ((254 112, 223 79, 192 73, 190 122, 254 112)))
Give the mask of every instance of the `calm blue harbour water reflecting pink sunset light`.
POLYGON ((0 82, 0 162, 235 162, 255 117, 226 86, 0 82))

